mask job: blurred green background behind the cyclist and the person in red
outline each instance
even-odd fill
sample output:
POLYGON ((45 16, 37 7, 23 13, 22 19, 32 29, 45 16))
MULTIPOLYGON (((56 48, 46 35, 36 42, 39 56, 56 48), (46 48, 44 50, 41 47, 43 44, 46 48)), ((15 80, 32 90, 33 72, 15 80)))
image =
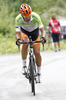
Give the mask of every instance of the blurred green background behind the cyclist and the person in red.
MULTIPOLYGON (((66 0, 0 0, 0 55, 19 53, 15 45, 15 17, 19 14, 22 3, 29 4, 32 10, 40 15, 46 34, 51 14, 57 15, 64 31, 61 49, 66 50, 66 0)), ((51 36, 49 38, 46 36, 46 39, 44 50, 53 50, 51 36)), ((42 45, 41 51, 43 51, 42 45)))

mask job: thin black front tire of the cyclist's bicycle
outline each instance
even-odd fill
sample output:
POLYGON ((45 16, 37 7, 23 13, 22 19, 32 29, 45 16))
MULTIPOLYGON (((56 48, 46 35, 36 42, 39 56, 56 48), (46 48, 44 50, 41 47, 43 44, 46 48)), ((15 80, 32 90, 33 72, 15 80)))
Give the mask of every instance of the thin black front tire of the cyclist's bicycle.
POLYGON ((35 80, 34 80, 34 70, 33 70, 33 57, 30 59, 30 77, 31 77, 31 92, 35 95, 35 80))

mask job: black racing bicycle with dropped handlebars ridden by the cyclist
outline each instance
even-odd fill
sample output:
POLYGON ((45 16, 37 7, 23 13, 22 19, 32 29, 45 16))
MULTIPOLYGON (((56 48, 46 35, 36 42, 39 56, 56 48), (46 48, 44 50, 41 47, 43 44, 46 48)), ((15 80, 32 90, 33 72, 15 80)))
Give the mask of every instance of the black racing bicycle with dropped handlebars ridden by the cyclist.
MULTIPOLYGON (((36 64, 35 64, 35 58, 33 55, 33 43, 39 43, 41 41, 32 41, 31 37, 29 37, 29 42, 19 42, 20 44, 29 44, 30 45, 30 50, 29 50, 29 65, 27 68, 27 73, 25 77, 29 79, 29 83, 31 84, 31 92, 35 95, 35 83, 36 81, 36 64)), ((40 81, 39 81, 40 83, 40 81)))

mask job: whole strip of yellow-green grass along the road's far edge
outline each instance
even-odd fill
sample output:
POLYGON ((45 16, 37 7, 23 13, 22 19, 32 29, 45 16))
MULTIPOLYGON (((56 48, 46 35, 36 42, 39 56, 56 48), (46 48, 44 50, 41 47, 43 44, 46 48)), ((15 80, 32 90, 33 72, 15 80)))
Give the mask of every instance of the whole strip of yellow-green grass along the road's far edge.
MULTIPOLYGON (((15 37, 3 37, 0 36, 0 55, 4 55, 4 54, 17 54, 19 53, 18 51, 18 47, 15 44, 15 37)), ((66 50, 66 40, 63 39, 60 41, 61 44, 61 49, 62 50, 66 50)), ((41 44, 41 48, 40 51, 52 51, 54 50, 54 46, 52 46, 52 43, 48 44, 46 43, 44 45, 44 50, 43 50, 43 46, 41 44)))

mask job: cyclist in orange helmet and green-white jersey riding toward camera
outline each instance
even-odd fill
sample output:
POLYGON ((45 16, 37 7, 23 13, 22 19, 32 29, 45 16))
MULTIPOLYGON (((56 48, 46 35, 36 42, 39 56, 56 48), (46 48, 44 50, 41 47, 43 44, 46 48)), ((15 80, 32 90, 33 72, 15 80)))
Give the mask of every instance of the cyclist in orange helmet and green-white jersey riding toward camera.
MULTIPOLYGON (((45 41, 45 30, 42 24, 42 21, 39 15, 35 12, 32 12, 31 7, 28 4, 22 4, 19 9, 20 14, 15 19, 16 25, 16 44, 18 40, 22 40, 23 42, 29 41, 29 36, 31 36, 33 41, 39 41, 39 30, 42 34, 42 42, 45 41)), ((27 59, 27 49, 28 44, 22 45, 22 71, 23 74, 26 73, 26 59, 27 59)), ((37 65, 37 74, 41 74, 41 55, 40 55, 40 43, 33 44, 33 51, 35 55, 36 65, 37 65)))

